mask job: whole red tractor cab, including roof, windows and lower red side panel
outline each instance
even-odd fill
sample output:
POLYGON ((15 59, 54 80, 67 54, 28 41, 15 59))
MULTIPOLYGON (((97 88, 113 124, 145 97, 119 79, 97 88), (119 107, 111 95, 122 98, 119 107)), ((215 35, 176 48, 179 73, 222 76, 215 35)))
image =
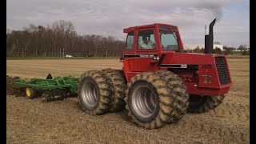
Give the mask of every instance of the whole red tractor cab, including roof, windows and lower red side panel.
POLYGON ((129 27, 123 32, 127 38, 122 59, 129 63, 130 72, 154 71, 163 53, 183 50, 177 26, 155 23, 129 27))

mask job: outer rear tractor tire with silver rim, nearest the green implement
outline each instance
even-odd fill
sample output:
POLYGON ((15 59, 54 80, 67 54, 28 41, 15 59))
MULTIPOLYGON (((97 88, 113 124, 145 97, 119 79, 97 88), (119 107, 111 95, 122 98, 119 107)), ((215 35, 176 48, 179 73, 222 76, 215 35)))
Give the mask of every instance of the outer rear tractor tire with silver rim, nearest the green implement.
POLYGON ((90 70, 81 75, 78 97, 87 113, 98 115, 109 112, 113 93, 110 79, 102 71, 90 70))

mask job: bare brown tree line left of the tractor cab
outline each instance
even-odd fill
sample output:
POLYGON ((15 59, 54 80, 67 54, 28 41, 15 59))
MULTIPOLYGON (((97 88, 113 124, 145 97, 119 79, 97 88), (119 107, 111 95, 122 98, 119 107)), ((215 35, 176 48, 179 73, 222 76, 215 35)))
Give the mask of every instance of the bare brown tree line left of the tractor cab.
POLYGON ((64 20, 6 31, 7 57, 119 57, 124 46, 125 42, 111 36, 79 35, 72 22, 64 20))

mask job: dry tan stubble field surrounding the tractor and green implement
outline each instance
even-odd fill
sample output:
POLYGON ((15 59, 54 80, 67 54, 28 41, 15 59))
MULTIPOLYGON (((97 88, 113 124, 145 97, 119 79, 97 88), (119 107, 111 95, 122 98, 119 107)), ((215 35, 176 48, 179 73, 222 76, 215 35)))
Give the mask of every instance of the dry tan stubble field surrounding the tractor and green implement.
MULTIPOLYGON (((250 60, 228 59, 234 86, 224 102, 206 114, 186 114, 178 124, 143 130, 127 111, 91 116, 77 98, 44 103, 8 95, 7 143, 249 143, 250 60)), ((118 60, 7 60, 7 75, 46 78, 103 68, 121 69, 118 60)))

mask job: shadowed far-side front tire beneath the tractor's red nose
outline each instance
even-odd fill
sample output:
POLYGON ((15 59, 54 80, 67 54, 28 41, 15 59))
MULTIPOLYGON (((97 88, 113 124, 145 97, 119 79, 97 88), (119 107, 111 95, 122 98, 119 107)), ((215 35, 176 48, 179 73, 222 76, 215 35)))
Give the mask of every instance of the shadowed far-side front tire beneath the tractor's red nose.
POLYGON ((218 105, 220 105, 225 98, 225 95, 218 96, 199 96, 190 95, 190 106, 188 112, 190 113, 205 113, 209 110, 214 110, 218 105))

